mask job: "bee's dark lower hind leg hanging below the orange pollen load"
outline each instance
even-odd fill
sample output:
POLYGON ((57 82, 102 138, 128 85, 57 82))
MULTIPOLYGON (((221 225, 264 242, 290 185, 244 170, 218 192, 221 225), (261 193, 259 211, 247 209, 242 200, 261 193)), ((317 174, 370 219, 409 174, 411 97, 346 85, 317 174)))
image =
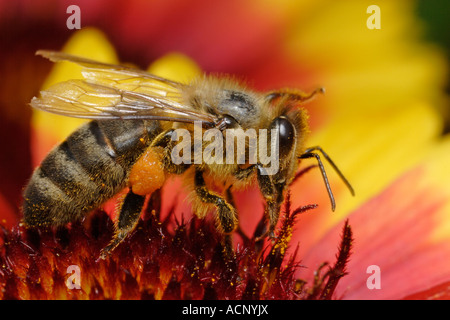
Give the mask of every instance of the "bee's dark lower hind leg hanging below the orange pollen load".
POLYGON ((120 208, 119 218, 115 223, 115 233, 111 242, 101 250, 100 257, 105 259, 127 235, 136 227, 142 208, 144 206, 145 196, 134 194, 131 189, 125 196, 120 208))

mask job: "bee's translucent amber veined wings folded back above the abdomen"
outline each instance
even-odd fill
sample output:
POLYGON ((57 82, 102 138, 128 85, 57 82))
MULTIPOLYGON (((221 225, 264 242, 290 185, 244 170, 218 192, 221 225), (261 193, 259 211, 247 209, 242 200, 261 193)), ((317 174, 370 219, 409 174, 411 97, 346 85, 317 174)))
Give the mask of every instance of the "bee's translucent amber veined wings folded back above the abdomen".
POLYGON ((142 119, 213 125, 216 118, 181 103, 186 85, 126 66, 101 63, 69 54, 38 51, 51 61, 67 60, 84 67, 86 80, 69 80, 33 98, 34 108, 86 119, 142 119))

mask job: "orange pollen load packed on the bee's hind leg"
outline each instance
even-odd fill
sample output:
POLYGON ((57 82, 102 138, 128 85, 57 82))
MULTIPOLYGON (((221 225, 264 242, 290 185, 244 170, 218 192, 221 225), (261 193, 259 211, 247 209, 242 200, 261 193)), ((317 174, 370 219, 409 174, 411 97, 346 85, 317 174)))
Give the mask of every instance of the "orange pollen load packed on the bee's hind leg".
POLYGON ((135 194, 152 194, 164 184, 166 180, 162 147, 149 147, 131 168, 129 184, 135 194))

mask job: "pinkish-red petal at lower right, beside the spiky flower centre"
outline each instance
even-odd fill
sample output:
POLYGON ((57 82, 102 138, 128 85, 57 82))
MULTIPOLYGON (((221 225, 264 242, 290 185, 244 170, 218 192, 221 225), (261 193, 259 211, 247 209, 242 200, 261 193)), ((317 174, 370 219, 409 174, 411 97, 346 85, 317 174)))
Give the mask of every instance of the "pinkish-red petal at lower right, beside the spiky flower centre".
MULTIPOLYGON (((424 185, 423 177, 423 168, 406 173, 349 216, 356 240, 350 276, 339 284, 338 297, 399 299, 450 277, 450 243, 430 239, 439 223, 437 214, 448 199, 424 185), (381 271, 379 290, 367 286, 371 265, 381 271)), ((324 258, 333 261, 340 229, 334 227, 303 256, 302 264, 309 267, 300 270, 303 278, 311 279, 324 258)))

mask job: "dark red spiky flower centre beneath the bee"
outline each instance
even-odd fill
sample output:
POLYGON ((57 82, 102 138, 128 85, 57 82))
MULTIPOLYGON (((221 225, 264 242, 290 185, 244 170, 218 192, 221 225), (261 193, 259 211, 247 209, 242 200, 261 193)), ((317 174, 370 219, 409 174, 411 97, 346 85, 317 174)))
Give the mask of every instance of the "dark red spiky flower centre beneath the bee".
POLYGON ((100 249, 114 229, 103 211, 56 232, 20 225, 3 229, 0 298, 324 299, 345 273, 352 241, 348 225, 336 265, 313 284, 294 277, 299 268, 295 254, 285 259, 296 215, 314 206, 286 211, 271 246, 246 239, 234 256, 224 257, 211 220, 178 221, 173 215, 161 220, 156 213, 160 201, 159 195, 152 197, 136 230, 106 260, 98 258, 100 249))

